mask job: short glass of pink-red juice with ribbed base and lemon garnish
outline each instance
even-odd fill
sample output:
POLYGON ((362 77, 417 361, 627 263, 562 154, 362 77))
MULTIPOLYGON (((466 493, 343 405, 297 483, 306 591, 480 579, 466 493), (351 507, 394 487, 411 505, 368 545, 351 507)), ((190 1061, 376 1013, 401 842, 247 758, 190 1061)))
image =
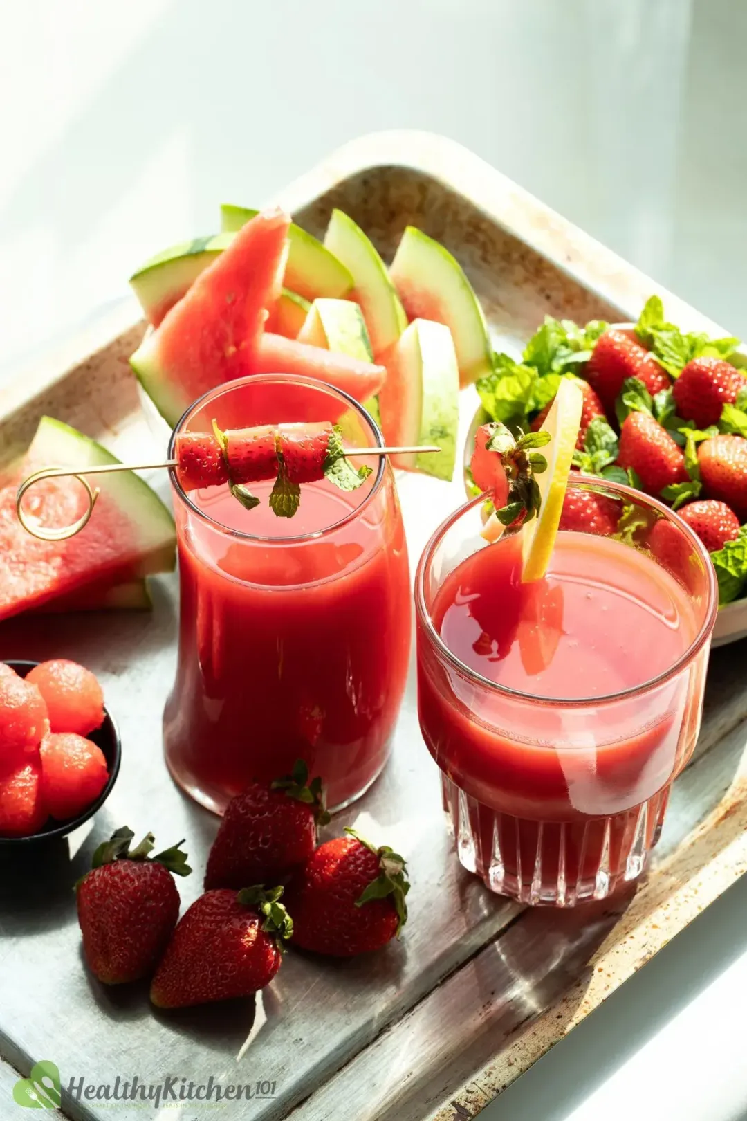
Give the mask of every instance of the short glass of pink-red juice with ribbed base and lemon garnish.
POLYGON ((542 581, 521 581, 521 534, 480 537, 482 499, 437 530, 415 577, 420 725, 459 860, 555 906, 643 870, 698 738, 718 605, 676 515, 569 485, 603 497, 606 531, 561 530, 542 581))

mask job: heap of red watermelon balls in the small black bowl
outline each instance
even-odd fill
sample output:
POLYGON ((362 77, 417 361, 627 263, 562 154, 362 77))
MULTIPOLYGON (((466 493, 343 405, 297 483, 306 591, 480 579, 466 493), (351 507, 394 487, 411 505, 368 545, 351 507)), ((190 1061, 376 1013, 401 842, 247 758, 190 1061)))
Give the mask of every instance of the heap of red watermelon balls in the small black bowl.
POLYGON ((20 677, 0 663, 0 836, 38 833, 77 817, 109 779, 101 749, 104 700, 90 669, 64 658, 20 677))

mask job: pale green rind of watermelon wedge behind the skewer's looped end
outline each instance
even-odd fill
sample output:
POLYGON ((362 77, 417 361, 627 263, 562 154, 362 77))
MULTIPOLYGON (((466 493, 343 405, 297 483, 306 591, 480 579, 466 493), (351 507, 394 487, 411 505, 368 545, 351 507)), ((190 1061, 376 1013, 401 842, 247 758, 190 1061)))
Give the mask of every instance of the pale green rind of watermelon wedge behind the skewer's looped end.
MULTIPOLYGON (((39 420, 29 456, 34 463, 81 470, 120 462, 95 439, 47 416, 39 420)), ((158 494, 132 471, 97 475, 95 484, 112 497, 138 532, 142 564, 137 574, 170 572, 176 565, 176 527, 158 494)))

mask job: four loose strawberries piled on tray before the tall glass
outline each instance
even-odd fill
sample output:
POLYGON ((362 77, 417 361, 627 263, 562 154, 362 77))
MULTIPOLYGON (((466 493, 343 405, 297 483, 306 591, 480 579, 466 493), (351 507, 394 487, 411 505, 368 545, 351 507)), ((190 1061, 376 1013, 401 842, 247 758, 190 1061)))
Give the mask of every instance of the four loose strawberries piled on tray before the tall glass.
POLYGON ((353 830, 317 845, 329 815, 321 780, 307 778, 299 761, 291 776, 251 784, 233 798, 205 891, 180 919, 174 876, 190 872, 183 842, 151 856, 152 834, 131 850, 133 834, 122 828, 100 845, 77 886, 95 976, 105 984, 150 979, 153 1004, 184 1008, 264 988, 291 938, 305 951, 347 957, 399 935, 410 887, 404 860, 353 830))

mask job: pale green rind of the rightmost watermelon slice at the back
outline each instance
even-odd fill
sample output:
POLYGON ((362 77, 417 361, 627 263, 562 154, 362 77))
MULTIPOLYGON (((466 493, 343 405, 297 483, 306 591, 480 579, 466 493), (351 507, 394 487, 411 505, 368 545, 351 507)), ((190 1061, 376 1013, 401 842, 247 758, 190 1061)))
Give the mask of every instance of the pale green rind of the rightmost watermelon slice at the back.
POLYGON ((489 373, 492 348, 485 316, 464 269, 448 249, 409 225, 389 274, 410 318, 436 319, 451 331, 463 386, 489 373))

